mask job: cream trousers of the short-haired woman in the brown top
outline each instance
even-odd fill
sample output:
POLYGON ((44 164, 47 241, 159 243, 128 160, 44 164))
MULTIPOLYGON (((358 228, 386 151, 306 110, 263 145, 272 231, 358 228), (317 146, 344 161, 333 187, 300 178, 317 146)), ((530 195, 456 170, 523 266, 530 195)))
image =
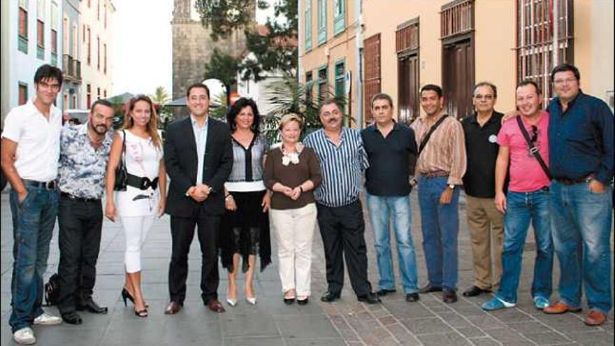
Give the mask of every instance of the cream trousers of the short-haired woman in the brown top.
POLYGON ((297 209, 271 209, 269 217, 277 242, 282 292, 295 289, 297 296, 310 296, 316 204, 297 209))

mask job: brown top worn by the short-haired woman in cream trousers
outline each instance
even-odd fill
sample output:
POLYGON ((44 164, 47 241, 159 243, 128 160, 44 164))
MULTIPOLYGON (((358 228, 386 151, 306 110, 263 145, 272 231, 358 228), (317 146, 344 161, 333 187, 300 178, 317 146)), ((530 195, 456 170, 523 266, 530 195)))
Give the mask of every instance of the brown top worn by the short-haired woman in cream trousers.
MULTIPOLYGON (((294 189, 303 184, 305 180, 314 182, 314 189, 320 185, 322 175, 320 164, 316 154, 310 147, 303 147, 299 154, 299 163, 282 164, 282 147, 277 147, 269 152, 265 161, 265 186, 273 190, 276 182, 294 189)), ((273 209, 296 209, 314 203, 314 189, 305 191, 296 201, 285 196, 281 192, 273 192, 271 208, 273 209)))

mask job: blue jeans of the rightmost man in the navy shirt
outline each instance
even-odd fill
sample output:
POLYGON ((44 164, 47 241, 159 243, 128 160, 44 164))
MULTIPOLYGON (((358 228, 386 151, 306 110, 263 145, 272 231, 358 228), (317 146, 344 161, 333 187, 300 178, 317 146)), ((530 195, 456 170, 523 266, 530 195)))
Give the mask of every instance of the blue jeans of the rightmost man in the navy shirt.
POLYGON ((560 261, 560 300, 581 305, 581 283, 590 309, 608 313, 611 296, 612 187, 602 194, 587 183, 551 183, 551 229, 560 261))

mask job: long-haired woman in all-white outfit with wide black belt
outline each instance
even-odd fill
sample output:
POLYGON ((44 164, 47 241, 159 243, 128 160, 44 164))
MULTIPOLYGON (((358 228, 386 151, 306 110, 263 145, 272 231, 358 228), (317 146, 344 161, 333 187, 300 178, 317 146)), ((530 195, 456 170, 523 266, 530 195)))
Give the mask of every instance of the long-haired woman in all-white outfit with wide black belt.
POLYGON ((133 302, 138 317, 147 317, 147 305, 141 291, 141 249, 154 218, 164 214, 166 202, 166 170, 162 157, 153 103, 147 96, 136 96, 130 101, 123 131, 118 131, 111 146, 105 215, 113 222, 119 215, 124 228, 126 282, 122 298, 124 305, 126 299, 133 302), (125 147, 122 147, 122 142, 125 147), (114 196, 115 168, 122 154, 128 172, 128 186, 126 191, 118 191, 114 196))

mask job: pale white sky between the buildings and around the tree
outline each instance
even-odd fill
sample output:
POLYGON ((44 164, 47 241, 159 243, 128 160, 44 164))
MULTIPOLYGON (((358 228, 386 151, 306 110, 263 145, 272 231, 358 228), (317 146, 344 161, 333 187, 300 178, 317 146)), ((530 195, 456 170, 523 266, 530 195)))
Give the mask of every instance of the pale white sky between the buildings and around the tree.
MULTIPOLYGON (((115 0, 113 5, 113 95, 149 95, 159 86, 171 95, 173 0, 115 0)), ((256 21, 266 22, 272 12, 258 10, 256 21)))

